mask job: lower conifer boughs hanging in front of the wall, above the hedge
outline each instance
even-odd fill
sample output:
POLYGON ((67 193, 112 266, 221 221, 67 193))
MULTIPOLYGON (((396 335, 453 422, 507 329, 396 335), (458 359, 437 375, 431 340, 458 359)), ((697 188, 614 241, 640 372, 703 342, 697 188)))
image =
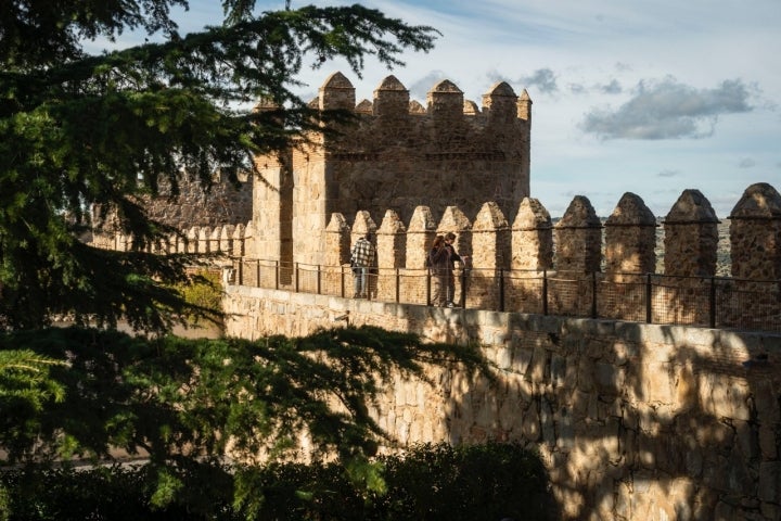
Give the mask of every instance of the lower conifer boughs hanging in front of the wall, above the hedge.
POLYGON ((44 389, 59 392, 41 394, 38 407, 0 396, 8 463, 98 462, 121 448, 149 458, 153 505, 184 501, 202 512, 212 511, 205 486, 235 486, 236 498, 249 501, 242 491, 252 488, 221 467, 229 444, 239 460, 273 460, 292 456, 303 432, 315 457, 337 456, 350 483, 380 494, 384 482, 370 458, 384 433, 369 406, 392 369, 423 379, 423 363, 458 364, 490 377, 476 348, 372 327, 254 342, 80 328, 0 335, 0 353, 18 352, 59 361, 44 366, 44 389))

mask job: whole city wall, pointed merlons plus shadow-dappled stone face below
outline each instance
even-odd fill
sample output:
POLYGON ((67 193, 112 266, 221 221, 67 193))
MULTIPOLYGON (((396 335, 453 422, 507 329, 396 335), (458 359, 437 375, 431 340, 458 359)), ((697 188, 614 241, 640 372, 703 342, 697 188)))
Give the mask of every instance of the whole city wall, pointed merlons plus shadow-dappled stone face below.
MULTIPOLYGON (((731 274, 747 285, 727 278, 731 289, 716 307, 733 319, 751 319, 767 306, 777 319, 781 195, 767 183, 753 185, 729 219, 731 274), (743 293, 750 300, 728 305, 743 293)), ((297 336, 368 323, 479 345, 497 366, 496 381, 458 367, 430 367, 433 387, 398 376, 374 417, 402 446, 491 439, 539 448, 566 519, 781 517, 778 327, 763 333, 751 332, 751 323, 744 331, 641 323, 648 318, 639 309, 642 293, 625 290, 614 293, 622 298, 600 304, 598 315, 606 318, 574 318, 590 316, 594 282, 628 288, 654 270, 651 231, 658 224, 638 195, 624 194, 604 223, 585 196, 576 196, 555 225, 529 198, 512 223, 494 203, 485 203, 474 220, 456 206, 437 218, 421 206, 407 224, 394 211, 379 223, 366 211, 351 223, 333 214, 324 231, 324 264, 318 266, 248 257, 252 221, 192 227, 158 251, 218 254, 230 263, 223 300, 230 335, 297 336), (374 294, 344 298, 351 284, 350 245, 368 230, 377 238, 374 294), (466 308, 423 305, 424 255, 434 236, 447 231, 472 256, 466 308), (505 269, 526 276, 503 287, 516 295, 502 312, 501 298, 509 295, 500 294, 496 281, 505 269), (523 308, 518 303, 539 305, 539 272, 558 276, 546 279, 550 307, 515 313, 523 308), (564 291, 578 274, 591 274, 589 283, 564 291), (618 312, 630 316, 611 319, 618 312)), ((676 320, 702 323, 697 315, 710 298, 694 281, 715 274, 717 225, 696 190, 673 205, 662 226, 664 270, 675 283, 654 313, 666 308, 676 320)), ((105 245, 129 244, 130 238, 115 236, 105 245)), ((662 318, 652 315, 650 321, 662 318)))

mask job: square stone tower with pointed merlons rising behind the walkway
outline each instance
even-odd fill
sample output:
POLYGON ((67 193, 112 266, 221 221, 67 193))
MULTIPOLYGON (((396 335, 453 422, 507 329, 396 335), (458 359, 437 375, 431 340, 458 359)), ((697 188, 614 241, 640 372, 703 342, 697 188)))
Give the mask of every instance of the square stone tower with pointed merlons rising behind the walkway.
POLYGON ((409 223, 418 206, 438 220, 456 205, 474 219, 484 202, 494 201, 512 219, 529 195, 532 100, 525 90, 518 97, 498 82, 478 109, 443 80, 423 107, 388 76, 372 102, 356 104, 355 88, 335 73, 312 105, 354 111, 357 120, 340 136, 311 136, 284 165, 256 158, 264 179, 254 185, 251 255, 322 264, 323 232, 334 213, 351 223, 368 211, 380 221, 393 209, 409 223))

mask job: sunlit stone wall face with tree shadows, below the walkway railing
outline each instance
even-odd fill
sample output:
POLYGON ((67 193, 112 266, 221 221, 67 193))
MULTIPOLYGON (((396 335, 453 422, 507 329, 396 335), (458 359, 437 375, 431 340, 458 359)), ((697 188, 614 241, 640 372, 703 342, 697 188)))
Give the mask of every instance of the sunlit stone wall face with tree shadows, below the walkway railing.
POLYGON ((430 367, 373 415, 401 446, 520 441, 564 519, 781 518, 781 335, 572 319, 229 285, 228 334, 350 323, 482 345, 497 380, 430 367))

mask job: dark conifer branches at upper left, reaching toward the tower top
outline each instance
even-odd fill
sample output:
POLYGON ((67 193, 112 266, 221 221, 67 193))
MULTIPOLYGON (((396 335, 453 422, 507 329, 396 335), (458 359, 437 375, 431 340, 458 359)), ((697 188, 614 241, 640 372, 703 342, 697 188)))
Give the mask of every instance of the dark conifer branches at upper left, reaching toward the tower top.
MULTIPOLYGON (((77 323, 165 331, 188 315, 176 284, 188 255, 150 247, 174 230, 139 196, 183 175, 208 190, 238 182, 254 154, 276 153, 340 112, 294 93, 305 59, 372 58, 398 65, 436 31, 356 4, 254 14, 226 0, 220 26, 180 36, 169 11, 185 0, 5 0, 0 7, 0 329, 77 323), (161 42, 88 54, 91 38, 140 28, 161 42), (251 111, 265 99, 279 109, 251 111), (132 237, 128 252, 87 245, 94 227, 132 237)), ((256 175, 259 173, 255 171, 256 175)), ((196 313, 197 308, 191 308, 196 313)))

